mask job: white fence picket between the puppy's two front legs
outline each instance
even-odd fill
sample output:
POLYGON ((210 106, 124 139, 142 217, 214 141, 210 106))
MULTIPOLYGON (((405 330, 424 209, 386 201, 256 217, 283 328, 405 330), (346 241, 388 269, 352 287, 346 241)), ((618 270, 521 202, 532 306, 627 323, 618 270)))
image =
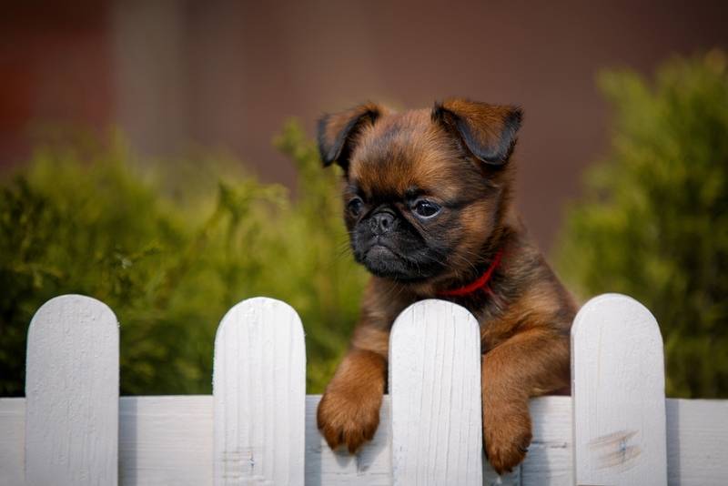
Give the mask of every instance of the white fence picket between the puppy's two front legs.
POLYGON ((394 484, 482 484, 480 331, 466 309, 422 300, 389 338, 394 484))

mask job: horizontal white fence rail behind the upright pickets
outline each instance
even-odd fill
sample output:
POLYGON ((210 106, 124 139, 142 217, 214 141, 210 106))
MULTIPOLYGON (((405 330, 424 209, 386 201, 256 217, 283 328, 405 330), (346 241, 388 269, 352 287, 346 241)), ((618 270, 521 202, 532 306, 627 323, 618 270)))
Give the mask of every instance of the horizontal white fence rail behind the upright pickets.
MULTIPOLYGON (((334 454, 316 428, 320 395, 306 397, 306 484, 391 484, 389 395, 381 424, 356 456, 334 454)), ((122 397, 119 481, 123 485, 212 484, 212 396, 122 397)), ((666 400, 668 481, 728 483, 728 400, 666 400)), ((531 400, 533 441, 523 486, 571 485, 571 397, 531 400)), ((25 399, 0 399, 0 485, 22 484, 25 399)), ((498 484, 497 481, 483 484, 498 484)))

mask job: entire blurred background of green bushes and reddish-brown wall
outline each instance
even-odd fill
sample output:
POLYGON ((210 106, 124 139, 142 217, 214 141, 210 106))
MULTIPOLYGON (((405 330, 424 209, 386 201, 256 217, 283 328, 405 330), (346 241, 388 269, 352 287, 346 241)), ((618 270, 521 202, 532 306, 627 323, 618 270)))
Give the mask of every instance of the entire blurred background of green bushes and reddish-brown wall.
POLYGON ((468 96, 524 108, 518 205, 573 292, 640 299, 668 393, 728 397, 725 25, 717 1, 4 5, 0 395, 67 292, 115 309, 126 394, 208 393, 225 310, 285 299, 320 392, 366 276, 316 119, 468 96))

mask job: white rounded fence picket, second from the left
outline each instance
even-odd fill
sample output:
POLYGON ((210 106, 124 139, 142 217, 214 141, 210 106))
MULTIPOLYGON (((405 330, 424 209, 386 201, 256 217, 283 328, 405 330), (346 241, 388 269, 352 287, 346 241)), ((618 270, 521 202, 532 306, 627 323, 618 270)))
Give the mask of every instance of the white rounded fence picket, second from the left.
POLYGON ((303 484, 306 349, 295 310, 256 298, 227 312, 213 396, 215 484, 303 484))

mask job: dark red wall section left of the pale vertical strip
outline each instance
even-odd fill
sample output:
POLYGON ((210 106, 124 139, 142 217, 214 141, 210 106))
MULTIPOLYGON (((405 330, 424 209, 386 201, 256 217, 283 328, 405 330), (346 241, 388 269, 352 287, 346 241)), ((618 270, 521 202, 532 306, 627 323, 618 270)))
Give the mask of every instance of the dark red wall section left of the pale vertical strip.
POLYGON ((108 5, 5 2, 0 15, 0 166, 27 157, 44 127, 114 117, 108 5))

